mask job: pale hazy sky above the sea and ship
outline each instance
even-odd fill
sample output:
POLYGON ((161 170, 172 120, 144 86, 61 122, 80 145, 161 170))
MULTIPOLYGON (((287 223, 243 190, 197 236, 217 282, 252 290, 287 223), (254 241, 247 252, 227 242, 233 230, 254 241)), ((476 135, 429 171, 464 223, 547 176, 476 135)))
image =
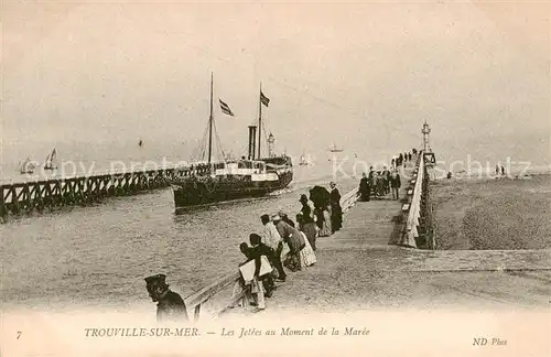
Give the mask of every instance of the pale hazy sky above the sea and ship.
POLYGON ((210 73, 226 152, 245 152, 261 84, 280 152, 335 142, 380 160, 419 148, 426 120, 439 161, 550 162, 549 3, 4 1, 1 13, 4 162, 53 145, 125 155, 139 138, 190 155, 210 73))

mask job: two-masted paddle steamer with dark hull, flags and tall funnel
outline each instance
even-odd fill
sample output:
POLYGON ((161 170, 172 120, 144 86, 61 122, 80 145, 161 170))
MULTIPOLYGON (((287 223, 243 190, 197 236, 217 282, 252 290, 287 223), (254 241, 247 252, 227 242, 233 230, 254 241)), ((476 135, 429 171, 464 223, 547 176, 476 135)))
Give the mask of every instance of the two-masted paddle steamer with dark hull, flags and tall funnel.
MULTIPOLYGON (((260 89, 257 126, 249 126, 248 156, 238 160, 212 161, 213 151, 213 76, 210 76, 210 116, 208 118, 208 161, 198 163, 205 170, 201 174, 193 174, 175 178, 171 182, 176 208, 212 204, 239 198, 261 197, 271 192, 285 188, 293 180, 293 164, 288 155, 269 154, 261 156, 261 125, 262 106, 268 107, 269 99, 260 89)), ((220 100, 220 106, 225 105, 220 100)), ((226 109, 231 115, 229 107, 226 109)), ((273 144, 270 133, 268 142, 273 144)))

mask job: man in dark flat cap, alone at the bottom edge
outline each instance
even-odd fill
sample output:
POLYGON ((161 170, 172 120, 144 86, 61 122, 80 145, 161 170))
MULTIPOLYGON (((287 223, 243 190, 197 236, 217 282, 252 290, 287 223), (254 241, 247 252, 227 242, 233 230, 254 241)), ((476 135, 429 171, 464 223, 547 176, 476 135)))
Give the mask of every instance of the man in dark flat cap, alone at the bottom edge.
POLYGON ((145 278, 149 296, 156 302, 156 321, 187 321, 184 300, 169 289, 169 284, 164 282, 165 279, 165 274, 145 278))

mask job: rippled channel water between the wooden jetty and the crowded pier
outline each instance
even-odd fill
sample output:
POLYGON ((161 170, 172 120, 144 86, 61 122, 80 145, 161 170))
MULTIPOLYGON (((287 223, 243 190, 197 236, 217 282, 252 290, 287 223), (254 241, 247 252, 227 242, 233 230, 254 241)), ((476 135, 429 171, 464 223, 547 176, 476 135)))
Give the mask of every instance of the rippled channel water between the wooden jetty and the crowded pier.
POLYGON ((148 304, 143 278, 156 273, 185 296, 235 271, 244 259, 238 246, 261 232, 262 214, 283 209, 294 220, 300 194, 314 184, 328 188, 336 180, 342 195, 357 185, 332 170, 327 161, 295 166, 295 180, 278 195, 177 213, 163 188, 10 217, 0 225, 2 309, 148 304))

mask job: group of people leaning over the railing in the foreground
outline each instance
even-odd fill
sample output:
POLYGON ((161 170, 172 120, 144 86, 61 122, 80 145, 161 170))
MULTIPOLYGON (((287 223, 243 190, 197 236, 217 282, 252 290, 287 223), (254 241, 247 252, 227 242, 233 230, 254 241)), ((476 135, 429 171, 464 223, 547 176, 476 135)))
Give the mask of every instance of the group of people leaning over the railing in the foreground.
POLYGON ((271 298, 276 282, 288 279, 290 272, 301 271, 317 261, 316 238, 328 237, 343 226, 341 193, 334 182, 331 192, 314 186, 310 197, 301 195, 301 208, 293 221, 288 214, 279 212, 260 216, 262 232, 250 234, 249 244, 241 242, 239 249, 246 260, 239 264, 241 278, 234 292, 247 291, 249 304, 257 311, 266 309, 264 298, 271 298), (287 246, 289 252, 282 255, 287 246))

